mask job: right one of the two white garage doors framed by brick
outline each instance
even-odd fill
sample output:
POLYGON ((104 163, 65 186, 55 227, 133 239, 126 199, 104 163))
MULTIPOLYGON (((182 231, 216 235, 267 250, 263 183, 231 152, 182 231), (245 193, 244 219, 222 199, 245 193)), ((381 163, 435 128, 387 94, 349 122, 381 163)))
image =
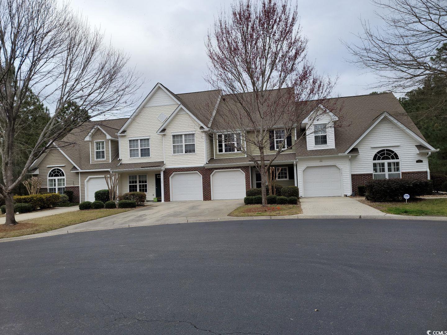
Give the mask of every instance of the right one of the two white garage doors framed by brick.
POLYGON ((245 197, 245 174, 240 170, 215 171, 211 176, 213 200, 245 197))

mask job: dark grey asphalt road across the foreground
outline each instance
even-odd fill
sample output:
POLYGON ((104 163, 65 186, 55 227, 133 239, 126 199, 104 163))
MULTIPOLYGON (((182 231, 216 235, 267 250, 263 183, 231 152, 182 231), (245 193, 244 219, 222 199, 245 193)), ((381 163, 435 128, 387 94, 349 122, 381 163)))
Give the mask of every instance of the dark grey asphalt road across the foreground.
POLYGON ((301 219, 0 243, 0 334, 445 331, 446 241, 447 222, 301 219))

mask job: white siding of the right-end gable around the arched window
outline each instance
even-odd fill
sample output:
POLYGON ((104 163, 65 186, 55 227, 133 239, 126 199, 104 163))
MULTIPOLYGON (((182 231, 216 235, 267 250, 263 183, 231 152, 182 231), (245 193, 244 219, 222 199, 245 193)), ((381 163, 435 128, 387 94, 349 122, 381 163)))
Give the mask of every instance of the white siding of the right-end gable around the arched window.
MULTIPOLYGON (((394 123, 381 120, 356 146, 359 155, 351 158, 351 173, 373 173, 372 159, 377 151, 391 149, 399 156, 400 170, 426 171, 427 154, 419 154, 415 145, 420 144, 394 123), (422 163, 416 163, 422 159, 422 163)), ((387 165, 385 164, 385 168, 387 165)))

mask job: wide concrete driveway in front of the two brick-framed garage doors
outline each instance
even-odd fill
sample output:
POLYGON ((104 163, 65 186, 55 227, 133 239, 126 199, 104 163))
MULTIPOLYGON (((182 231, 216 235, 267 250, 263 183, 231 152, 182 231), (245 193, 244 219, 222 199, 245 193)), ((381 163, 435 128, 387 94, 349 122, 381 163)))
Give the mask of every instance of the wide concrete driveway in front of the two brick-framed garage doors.
POLYGON ((148 226, 161 223, 200 222, 205 218, 207 221, 211 218, 218 221, 240 205, 244 205, 244 200, 154 202, 144 208, 52 230, 51 233, 110 229, 135 224, 148 226))

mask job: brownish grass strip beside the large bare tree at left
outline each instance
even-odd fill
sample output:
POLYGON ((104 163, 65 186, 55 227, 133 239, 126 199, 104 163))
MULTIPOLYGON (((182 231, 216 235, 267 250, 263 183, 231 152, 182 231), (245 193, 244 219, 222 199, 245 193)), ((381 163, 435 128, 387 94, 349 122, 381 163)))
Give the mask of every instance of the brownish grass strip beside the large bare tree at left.
POLYGON ((127 212, 132 209, 134 208, 77 210, 75 212, 61 213, 45 216, 43 218, 21 221, 15 226, 0 225, 0 239, 44 233, 46 231, 76 225, 77 223, 127 212))

